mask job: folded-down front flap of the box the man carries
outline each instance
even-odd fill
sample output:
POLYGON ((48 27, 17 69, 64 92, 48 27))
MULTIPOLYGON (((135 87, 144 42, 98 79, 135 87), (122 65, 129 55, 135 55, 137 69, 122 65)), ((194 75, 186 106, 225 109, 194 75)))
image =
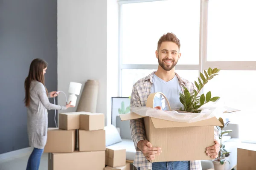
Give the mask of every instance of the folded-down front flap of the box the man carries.
POLYGON ((193 123, 173 122, 169 120, 151 118, 155 128, 166 127, 192 127, 192 126, 221 126, 221 122, 216 117, 193 123))

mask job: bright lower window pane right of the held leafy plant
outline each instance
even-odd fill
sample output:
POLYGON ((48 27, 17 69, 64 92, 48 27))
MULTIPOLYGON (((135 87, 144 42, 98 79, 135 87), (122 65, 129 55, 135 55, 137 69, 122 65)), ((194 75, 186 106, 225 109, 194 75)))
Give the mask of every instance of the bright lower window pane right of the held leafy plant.
POLYGON ((235 113, 224 113, 223 116, 230 119, 230 123, 239 124, 239 136, 242 140, 256 142, 256 133, 248 130, 256 120, 256 91, 253 80, 256 77, 256 71, 223 70, 218 74, 209 80, 204 88, 204 94, 211 91, 212 97, 220 96, 226 106, 241 110, 235 113))

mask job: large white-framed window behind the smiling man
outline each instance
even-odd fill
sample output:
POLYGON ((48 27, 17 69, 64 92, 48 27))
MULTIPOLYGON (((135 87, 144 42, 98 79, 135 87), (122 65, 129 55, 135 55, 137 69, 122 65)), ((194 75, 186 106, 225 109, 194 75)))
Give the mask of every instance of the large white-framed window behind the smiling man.
POLYGON ((250 132, 256 119, 256 11, 251 0, 119 0, 119 95, 157 70, 157 42, 166 32, 177 35, 181 58, 176 72, 192 82, 205 69, 220 68, 204 88, 241 111, 225 119, 238 123, 240 138, 256 142, 250 132))

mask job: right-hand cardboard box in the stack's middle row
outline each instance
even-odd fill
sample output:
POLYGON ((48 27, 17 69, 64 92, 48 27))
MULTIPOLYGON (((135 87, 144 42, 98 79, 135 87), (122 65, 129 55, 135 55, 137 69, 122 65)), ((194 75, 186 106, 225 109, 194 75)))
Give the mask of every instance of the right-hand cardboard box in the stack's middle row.
POLYGON ((105 151, 105 140, 105 130, 79 130, 79 151, 105 151))

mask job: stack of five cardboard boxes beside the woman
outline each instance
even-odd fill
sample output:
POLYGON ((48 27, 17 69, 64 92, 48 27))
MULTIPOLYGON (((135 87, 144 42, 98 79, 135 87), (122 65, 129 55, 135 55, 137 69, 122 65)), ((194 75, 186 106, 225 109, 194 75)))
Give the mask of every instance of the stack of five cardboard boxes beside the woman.
POLYGON ((60 113, 59 128, 49 128, 44 152, 49 170, 104 170, 105 130, 102 113, 60 113), (76 133, 76 131, 79 133, 76 133), (76 147, 76 135, 79 149, 76 147))

